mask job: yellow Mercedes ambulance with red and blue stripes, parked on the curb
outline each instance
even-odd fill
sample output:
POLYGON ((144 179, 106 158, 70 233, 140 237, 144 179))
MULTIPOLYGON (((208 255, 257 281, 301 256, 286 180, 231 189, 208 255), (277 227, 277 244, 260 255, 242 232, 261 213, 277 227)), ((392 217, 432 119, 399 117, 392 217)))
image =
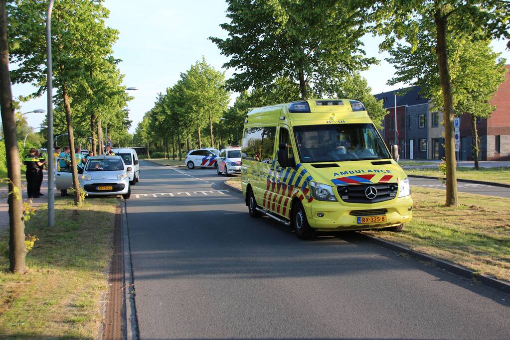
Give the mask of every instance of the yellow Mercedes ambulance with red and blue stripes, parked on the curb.
POLYGON ((391 149, 359 101, 250 109, 241 160, 249 214, 292 225, 300 239, 316 231, 401 231, 413 216, 413 200, 395 161, 397 146, 391 149))

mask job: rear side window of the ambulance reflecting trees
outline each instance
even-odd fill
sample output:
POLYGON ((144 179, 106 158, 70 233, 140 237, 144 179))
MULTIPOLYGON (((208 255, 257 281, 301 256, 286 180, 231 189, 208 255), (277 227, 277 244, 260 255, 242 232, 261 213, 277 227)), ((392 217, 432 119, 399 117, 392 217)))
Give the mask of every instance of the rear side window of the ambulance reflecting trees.
POLYGON ((273 161, 275 126, 254 127, 244 130, 243 158, 263 163, 273 161))

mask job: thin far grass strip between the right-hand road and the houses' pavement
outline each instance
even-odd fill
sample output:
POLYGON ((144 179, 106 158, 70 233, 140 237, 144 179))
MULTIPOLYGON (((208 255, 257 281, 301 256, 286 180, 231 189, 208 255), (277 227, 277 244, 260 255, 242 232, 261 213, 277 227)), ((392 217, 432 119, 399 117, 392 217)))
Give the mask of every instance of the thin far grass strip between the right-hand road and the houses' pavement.
MULTIPOLYGON (((439 169, 404 169, 407 175, 421 175, 430 177, 444 177, 439 169)), ((472 167, 459 167, 458 179, 497 182, 510 184, 510 167, 481 167, 475 170, 472 167)))

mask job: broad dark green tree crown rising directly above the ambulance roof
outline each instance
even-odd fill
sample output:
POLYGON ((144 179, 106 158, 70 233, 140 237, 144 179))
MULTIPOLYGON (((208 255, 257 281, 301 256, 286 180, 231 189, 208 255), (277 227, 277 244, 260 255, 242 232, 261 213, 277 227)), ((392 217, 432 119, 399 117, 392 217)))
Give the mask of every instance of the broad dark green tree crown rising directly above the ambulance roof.
MULTIPOLYGON (((365 58, 360 38, 366 33, 363 12, 351 2, 334 0, 228 0, 230 23, 221 24, 228 38, 210 37, 230 57, 223 67, 234 73, 227 88, 270 88, 288 78, 301 99, 345 72, 376 62, 365 58)), ((355 2, 352 2, 355 3, 355 2)))

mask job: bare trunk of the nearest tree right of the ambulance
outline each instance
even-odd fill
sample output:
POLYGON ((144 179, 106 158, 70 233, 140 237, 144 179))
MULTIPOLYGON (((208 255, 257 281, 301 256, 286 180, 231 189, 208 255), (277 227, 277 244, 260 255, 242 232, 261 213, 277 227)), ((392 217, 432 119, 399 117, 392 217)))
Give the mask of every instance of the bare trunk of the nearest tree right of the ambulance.
POLYGON ((453 95, 448 69, 448 48, 446 45, 447 18, 443 8, 437 8, 434 14, 436 23, 436 55, 438 57, 439 80, 443 93, 446 152, 446 206, 457 206, 457 174, 455 168, 455 144, 453 140, 453 95))

